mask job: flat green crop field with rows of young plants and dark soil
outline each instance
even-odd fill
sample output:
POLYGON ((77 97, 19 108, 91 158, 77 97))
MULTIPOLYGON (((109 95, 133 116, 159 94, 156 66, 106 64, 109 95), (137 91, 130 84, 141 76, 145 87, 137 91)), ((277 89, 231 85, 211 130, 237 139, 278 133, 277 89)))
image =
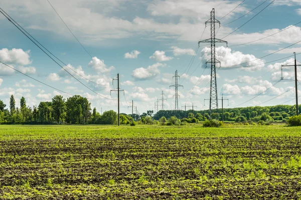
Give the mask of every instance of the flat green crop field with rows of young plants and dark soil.
POLYGON ((301 128, 0 126, 0 199, 301 199, 301 128))

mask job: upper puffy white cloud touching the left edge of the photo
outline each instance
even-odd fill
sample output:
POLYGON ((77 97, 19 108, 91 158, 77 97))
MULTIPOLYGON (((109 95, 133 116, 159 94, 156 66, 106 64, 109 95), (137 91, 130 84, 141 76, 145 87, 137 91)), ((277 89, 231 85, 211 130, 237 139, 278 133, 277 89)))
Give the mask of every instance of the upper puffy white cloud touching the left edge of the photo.
POLYGON ((13 64, 30 64, 32 61, 29 59, 30 50, 24 51, 21 48, 13 48, 9 50, 3 48, 0 50, 0 60, 3 62, 13 63, 13 64))

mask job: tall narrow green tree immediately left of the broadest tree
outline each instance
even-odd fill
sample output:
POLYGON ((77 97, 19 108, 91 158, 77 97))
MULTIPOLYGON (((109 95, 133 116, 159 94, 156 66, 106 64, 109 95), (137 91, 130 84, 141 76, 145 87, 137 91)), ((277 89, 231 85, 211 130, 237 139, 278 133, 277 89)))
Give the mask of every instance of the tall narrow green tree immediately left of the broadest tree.
POLYGON ((63 121, 63 117, 65 116, 65 112, 66 112, 65 100, 66 99, 62 95, 55 95, 52 98, 53 115, 57 123, 59 123, 60 120, 63 121))

